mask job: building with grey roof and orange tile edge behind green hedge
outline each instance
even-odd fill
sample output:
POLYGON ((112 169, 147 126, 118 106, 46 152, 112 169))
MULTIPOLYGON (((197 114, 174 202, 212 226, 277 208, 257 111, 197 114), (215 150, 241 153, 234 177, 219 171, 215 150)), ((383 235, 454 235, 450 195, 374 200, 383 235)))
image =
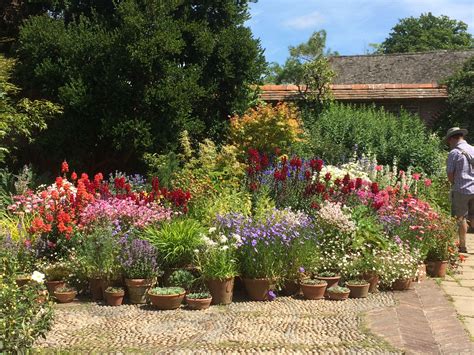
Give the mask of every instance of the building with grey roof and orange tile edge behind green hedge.
MULTIPOLYGON (((374 103, 394 113, 403 107, 431 124, 446 102, 443 81, 472 56, 474 50, 335 56, 330 58, 336 72, 331 89, 336 101, 374 103)), ((263 85, 260 97, 291 101, 298 93, 295 85, 263 85)))

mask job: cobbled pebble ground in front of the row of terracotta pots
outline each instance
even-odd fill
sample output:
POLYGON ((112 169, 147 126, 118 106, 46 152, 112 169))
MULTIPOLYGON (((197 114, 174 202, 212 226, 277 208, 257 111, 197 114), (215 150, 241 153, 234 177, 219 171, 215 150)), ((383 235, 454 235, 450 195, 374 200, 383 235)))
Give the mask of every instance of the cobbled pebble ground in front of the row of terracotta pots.
POLYGON ((392 293, 367 299, 234 302, 205 311, 158 311, 75 302, 56 306, 53 329, 36 350, 119 353, 400 353, 371 334, 370 310, 392 307, 392 293))

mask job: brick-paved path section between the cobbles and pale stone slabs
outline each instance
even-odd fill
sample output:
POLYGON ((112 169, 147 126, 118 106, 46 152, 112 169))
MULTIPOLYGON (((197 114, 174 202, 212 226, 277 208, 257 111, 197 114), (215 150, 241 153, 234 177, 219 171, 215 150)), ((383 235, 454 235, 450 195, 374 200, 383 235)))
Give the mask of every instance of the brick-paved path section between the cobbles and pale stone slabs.
POLYGON ((397 306, 367 314, 370 330, 408 354, 474 354, 453 305, 433 280, 395 292, 397 306))

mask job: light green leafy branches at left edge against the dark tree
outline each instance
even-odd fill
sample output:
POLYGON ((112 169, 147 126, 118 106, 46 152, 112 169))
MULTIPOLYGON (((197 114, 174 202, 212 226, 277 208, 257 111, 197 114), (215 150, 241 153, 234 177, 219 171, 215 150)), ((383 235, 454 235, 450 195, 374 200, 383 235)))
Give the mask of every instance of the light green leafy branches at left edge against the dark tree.
POLYGON ((59 106, 45 100, 19 98, 20 89, 10 82, 15 61, 0 55, 0 163, 15 162, 16 153, 31 144, 47 121, 61 113, 59 106))

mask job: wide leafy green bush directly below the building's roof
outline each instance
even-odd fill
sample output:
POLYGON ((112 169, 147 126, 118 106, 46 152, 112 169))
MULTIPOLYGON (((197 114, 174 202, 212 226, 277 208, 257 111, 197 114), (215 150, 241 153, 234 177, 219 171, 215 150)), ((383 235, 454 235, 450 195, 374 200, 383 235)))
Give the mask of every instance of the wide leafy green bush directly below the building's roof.
POLYGON ((319 117, 306 113, 309 144, 313 154, 331 164, 353 155, 375 154, 380 164, 396 157, 401 169, 414 166, 432 173, 441 164, 441 142, 430 134, 422 120, 407 112, 395 116, 375 107, 355 107, 335 103, 319 117))

